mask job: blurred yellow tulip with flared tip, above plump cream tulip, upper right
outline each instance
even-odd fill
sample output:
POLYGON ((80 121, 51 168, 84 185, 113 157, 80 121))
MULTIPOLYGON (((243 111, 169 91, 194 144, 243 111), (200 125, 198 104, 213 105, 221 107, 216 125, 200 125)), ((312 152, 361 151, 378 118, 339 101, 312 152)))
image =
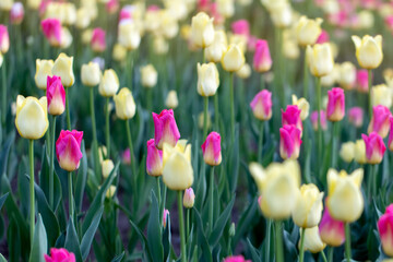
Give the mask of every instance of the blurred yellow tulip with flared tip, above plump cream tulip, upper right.
POLYGON ((321 35, 321 24, 323 20, 318 17, 310 20, 302 15, 296 24, 296 38, 300 46, 308 46, 315 44, 318 37, 321 35))

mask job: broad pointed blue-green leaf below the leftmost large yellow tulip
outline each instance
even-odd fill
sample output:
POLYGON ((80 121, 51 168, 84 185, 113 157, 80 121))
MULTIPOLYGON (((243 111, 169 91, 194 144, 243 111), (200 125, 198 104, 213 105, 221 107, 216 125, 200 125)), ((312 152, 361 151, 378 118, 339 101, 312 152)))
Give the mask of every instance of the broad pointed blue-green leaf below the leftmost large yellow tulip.
POLYGON ((47 235, 46 235, 45 226, 43 224, 43 218, 40 214, 38 214, 37 223, 34 228, 32 252, 28 261, 45 262, 44 254, 46 254, 47 250, 48 250, 47 235))

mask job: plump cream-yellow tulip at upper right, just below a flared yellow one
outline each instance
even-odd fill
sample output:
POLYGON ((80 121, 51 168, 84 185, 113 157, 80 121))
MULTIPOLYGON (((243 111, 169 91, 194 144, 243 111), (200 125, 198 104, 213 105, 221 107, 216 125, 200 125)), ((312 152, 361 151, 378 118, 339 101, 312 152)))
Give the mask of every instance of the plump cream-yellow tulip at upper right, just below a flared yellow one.
POLYGON ((334 60, 331 46, 325 44, 315 44, 312 47, 307 46, 307 59, 311 73, 321 78, 329 74, 334 67, 334 60))

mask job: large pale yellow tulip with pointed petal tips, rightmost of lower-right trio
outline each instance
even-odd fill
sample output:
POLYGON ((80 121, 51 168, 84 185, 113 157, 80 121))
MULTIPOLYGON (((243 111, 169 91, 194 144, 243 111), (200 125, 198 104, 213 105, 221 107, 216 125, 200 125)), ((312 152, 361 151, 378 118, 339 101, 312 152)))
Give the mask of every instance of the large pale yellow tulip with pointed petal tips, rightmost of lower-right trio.
POLYGON ((364 211, 361 194, 361 168, 348 175, 345 170, 337 172, 335 169, 327 171, 327 209, 333 218, 352 223, 357 221, 364 211))

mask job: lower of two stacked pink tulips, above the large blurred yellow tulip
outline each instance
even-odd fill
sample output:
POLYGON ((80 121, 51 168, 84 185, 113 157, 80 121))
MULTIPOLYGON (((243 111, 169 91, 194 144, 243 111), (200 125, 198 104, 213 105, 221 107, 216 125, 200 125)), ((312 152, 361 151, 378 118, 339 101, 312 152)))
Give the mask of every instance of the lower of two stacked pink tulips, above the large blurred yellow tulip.
POLYGON ((297 159, 301 145, 301 131, 293 124, 279 129, 279 155, 283 159, 297 159))

